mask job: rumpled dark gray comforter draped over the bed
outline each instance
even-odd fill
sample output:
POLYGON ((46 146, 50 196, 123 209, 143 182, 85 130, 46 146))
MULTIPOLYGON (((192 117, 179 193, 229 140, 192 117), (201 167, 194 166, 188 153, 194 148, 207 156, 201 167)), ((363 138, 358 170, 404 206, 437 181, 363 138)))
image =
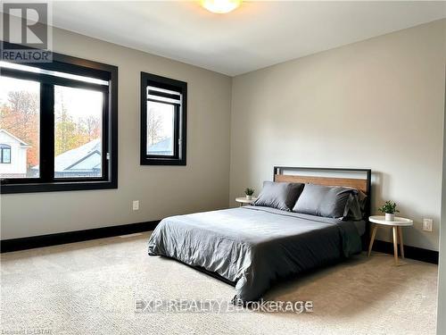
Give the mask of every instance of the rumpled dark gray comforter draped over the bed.
POLYGON ((165 255, 235 282, 236 297, 259 299, 283 279, 359 253, 364 222, 258 206, 171 216, 149 240, 165 255))

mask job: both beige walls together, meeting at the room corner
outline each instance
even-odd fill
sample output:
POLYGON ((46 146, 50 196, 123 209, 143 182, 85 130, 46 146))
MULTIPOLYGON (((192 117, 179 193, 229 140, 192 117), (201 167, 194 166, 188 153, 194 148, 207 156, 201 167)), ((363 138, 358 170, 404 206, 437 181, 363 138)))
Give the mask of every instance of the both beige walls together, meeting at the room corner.
POLYGON ((307 165, 372 168, 374 209, 394 199, 416 221, 407 244, 438 250, 445 24, 238 76, 232 93, 224 75, 54 29, 56 52, 119 66, 119 188, 2 195, 1 237, 157 220, 228 198, 235 205, 245 187, 271 179, 273 165, 307 165), (188 82, 186 167, 139 165, 140 71, 188 82), (434 232, 421 230, 423 217, 434 232))

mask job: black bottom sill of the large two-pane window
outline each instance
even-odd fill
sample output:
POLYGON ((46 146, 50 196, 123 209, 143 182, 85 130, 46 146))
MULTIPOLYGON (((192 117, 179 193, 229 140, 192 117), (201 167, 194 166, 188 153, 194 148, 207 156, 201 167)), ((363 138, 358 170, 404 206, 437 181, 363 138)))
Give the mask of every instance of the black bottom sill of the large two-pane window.
POLYGON ((76 191, 88 189, 118 188, 117 181, 63 181, 29 184, 0 184, 0 194, 76 191))

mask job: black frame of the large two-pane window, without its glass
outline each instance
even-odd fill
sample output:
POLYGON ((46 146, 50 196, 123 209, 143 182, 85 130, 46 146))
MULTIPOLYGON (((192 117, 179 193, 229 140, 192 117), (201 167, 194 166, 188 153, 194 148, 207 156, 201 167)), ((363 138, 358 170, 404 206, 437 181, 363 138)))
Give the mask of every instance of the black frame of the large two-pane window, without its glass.
MULTIPOLYGON (((3 44, 7 48, 13 46, 7 42, 3 44)), ((53 53, 52 63, 21 64, 106 80, 109 84, 99 86, 43 73, 2 68, 2 76, 40 82, 40 143, 39 177, 0 179, 0 193, 118 188, 118 67, 57 53, 53 53), (54 176, 54 86, 87 88, 103 92, 102 177, 56 178, 54 176)))

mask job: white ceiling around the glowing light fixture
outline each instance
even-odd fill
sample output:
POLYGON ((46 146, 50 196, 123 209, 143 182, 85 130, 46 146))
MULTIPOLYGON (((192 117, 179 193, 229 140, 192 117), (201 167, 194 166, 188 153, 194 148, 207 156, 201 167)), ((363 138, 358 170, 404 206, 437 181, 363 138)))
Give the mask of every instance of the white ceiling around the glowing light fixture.
POLYGON ((446 2, 54 2, 53 24, 230 76, 446 17, 446 2))

